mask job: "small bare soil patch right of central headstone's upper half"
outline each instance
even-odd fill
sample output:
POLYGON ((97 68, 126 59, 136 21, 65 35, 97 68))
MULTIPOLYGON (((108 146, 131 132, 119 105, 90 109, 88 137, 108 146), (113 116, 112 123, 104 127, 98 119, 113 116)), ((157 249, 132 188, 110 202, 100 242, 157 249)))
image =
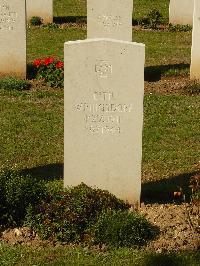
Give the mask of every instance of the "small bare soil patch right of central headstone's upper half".
POLYGON ((184 87, 190 82, 189 77, 166 77, 155 82, 145 81, 146 93, 184 94, 184 87))

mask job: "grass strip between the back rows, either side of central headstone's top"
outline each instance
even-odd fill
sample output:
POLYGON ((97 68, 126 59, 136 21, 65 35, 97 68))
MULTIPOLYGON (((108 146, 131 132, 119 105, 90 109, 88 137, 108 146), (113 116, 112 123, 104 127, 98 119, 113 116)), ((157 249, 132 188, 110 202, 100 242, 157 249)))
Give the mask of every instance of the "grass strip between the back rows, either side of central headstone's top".
MULTIPOLYGON (((63 59, 64 42, 85 38, 85 29, 33 27, 28 30, 28 62, 45 56, 63 59)), ((147 66, 190 63, 191 32, 135 31, 133 40, 146 45, 147 66)))

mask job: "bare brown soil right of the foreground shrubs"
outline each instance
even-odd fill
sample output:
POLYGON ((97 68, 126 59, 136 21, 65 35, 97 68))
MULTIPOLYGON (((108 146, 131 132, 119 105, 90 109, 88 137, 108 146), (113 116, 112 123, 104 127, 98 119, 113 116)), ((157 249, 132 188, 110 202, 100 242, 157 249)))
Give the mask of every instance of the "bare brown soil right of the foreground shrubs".
POLYGON ((200 249, 200 208, 187 203, 142 205, 140 212, 158 227, 158 238, 147 249, 156 252, 200 249))

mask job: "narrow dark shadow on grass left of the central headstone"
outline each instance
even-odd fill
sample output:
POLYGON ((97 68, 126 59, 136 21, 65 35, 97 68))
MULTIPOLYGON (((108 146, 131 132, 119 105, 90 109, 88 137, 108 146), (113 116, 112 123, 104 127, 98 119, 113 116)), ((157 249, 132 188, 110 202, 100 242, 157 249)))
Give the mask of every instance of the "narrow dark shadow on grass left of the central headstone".
POLYGON ((39 177, 44 180, 55 180, 63 178, 63 164, 48 164, 20 171, 22 175, 39 177))

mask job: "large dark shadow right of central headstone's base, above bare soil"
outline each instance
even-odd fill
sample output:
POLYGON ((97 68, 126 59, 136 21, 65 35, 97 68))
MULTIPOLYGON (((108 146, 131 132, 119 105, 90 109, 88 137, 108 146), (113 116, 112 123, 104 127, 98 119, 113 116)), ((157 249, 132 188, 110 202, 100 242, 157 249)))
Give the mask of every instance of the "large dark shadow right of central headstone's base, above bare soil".
POLYGON ((174 192, 178 192, 180 188, 185 195, 185 200, 189 202, 191 196, 189 182, 195 174, 197 174, 197 171, 142 184, 141 202, 148 204, 173 203, 176 201, 178 203, 183 198, 176 200, 174 192))

